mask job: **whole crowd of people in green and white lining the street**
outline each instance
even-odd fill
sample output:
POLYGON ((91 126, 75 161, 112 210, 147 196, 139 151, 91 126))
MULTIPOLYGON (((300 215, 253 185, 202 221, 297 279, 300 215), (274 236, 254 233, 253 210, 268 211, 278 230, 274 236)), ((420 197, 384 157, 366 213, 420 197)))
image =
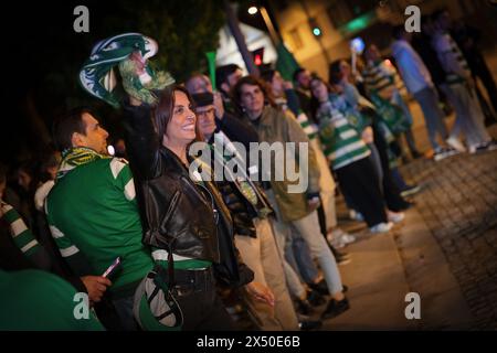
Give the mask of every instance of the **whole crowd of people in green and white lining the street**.
POLYGON ((356 67, 338 60, 327 79, 305 68, 293 82, 269 67, 244 76, 231 64, 216 68, 215 87, 202 73, 171 84, 147 71, 146 38, 119 38, 138 43, 119 64, 120 156, 109 156, 98 117, 76 108, 55 121, 56 150, 42 161, 0 165, 0 329, 236 330, 245 313, 255 330, 315 330, 346 312, 353 302, 339 268, 356 236, 340 228, 336 196, 371 234, 402 226, 420 185, 399 165, 423 156, 410 95, 434 161, 497 149, 485 127, 495 83, 474 61, 467 28, 446 11, 422 25, 414 41, 393 30, 394 62, 368 43, 356 67), (484 108, 476 76, 490 98, 484 108), (451 131, 444 105, 456 115, 451 131), (219 154, 234 142, 307 143, 306 163, 298 149, 282 157, 307 188, 290 192, 288 175, 219 154), (202 178, 214 163, 230 175, 234 161, 246 165, 234 178, 202 178), (87 293, 85 320, 72 315, 76 292, 87 293))

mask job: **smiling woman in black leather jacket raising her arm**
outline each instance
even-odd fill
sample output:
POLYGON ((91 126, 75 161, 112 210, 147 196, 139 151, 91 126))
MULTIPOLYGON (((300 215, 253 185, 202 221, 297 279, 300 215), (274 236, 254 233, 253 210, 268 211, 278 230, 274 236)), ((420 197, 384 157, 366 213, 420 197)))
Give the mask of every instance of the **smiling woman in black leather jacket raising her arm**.
MULTIPOLYGON (((188 156, 199 138, 186 89, 161 93, 157 106, 125 106, 126 143, 144 220, 144 243, 167 268, 183 313, 183 330, 230 330, 233 322, 214 287, 253 280, 232 239, 232 220, 211 181, 191 178, 188 156), (195 179, 195 180, 193 180, 195 179)), ((192 175, 193 176, 193 175, 192 175)))

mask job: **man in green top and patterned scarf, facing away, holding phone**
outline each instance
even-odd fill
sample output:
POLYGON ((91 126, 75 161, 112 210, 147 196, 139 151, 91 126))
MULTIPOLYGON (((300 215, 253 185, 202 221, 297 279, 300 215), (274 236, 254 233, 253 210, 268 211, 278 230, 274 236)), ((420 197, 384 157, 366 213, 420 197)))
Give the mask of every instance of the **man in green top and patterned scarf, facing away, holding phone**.
POLYGON ((92 279, 85 282, 89 300, 107 291, 123 327, 135 330, 133 297, 152 259, 141 244, 131 171, 106 156, 108 133, 89 110, 72 111, 54 133, 63 160, 45 204, 52 236, 74 274, 92 279), (104 278, 117 257, 119 270, 104 278))

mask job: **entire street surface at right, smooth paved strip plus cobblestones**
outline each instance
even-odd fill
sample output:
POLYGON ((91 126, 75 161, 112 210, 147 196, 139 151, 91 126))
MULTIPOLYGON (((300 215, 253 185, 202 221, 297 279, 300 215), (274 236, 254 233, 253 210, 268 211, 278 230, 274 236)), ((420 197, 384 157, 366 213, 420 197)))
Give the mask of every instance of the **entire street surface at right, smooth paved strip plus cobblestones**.
MULTIPOLYGON (((497 52, 488 63, 497 76, 497 52)), ((497 329, 497 151, 434 162, 417 104, 411 111, 426 156, 401 171, 422 191, 405 221, 384 235, 371 236, 337 204, 339 225, 358 237, 345 249, 352 263, 340 266, 351 309, 324 330, 497 329), (420 320, 405 318, 409 292, 421 297, 420 320)), ((497 138, 497 125, 488 130, 497 138)))

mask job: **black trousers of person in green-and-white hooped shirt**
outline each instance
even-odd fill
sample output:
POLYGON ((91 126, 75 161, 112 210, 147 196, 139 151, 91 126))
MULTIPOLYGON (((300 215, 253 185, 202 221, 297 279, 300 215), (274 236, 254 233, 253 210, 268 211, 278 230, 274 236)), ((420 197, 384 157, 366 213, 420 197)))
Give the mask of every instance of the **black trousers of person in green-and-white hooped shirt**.
POLYGON ((380 191, 374 167, 369 158, 363 158, 336 170, 343 193, 353 202, 369 227, 387 222, 385 205, 380 191))

